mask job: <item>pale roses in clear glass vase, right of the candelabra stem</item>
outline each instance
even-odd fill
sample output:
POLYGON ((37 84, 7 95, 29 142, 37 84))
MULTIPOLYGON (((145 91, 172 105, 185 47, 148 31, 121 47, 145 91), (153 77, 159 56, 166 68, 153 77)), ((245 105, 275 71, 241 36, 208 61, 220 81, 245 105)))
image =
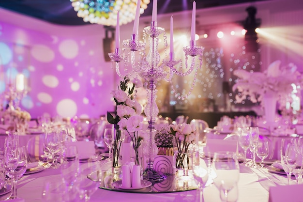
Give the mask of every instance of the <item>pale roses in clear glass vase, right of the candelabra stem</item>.
POLYGON ((193 124, 174 124, 170 125, 170 133, 174 136, 175 166, 176 169, 189 168, 189 148, 191 144, 196 144, 196 126, 193 124))

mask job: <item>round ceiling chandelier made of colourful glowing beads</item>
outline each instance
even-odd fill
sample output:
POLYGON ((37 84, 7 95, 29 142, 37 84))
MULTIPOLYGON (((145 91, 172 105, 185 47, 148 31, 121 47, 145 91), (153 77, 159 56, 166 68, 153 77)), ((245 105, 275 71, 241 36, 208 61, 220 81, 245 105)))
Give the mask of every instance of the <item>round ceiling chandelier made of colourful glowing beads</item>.
MULTIPOLYGON (((137 0, 70 0, 78 17, 84 22, 115 26, 117 12, 120 12, 120 25, 135 19, 137 0)), ((141 0, 140 14, 144 13, 150 0, 141 0)))

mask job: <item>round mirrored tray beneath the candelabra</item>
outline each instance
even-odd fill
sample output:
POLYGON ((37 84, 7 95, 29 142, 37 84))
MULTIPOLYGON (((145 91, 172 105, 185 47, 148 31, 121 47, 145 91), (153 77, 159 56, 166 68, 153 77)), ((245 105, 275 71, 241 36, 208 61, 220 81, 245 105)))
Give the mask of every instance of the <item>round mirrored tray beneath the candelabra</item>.
POLYGON ((97 181, 100 180, 100 188, 120 192, 132 193, 169 193, 180 192, 197 189, 194 179, 191 180, 178 180, 175 175, 168 175, 167 179, 162 182, 152 182, 152 186, 144 187, 141 189, 119 189, 113 186, 113 182, 121 180, 121 174, 113 174, 111 171, 94 171, 88 175, 88 178, 97 181))

